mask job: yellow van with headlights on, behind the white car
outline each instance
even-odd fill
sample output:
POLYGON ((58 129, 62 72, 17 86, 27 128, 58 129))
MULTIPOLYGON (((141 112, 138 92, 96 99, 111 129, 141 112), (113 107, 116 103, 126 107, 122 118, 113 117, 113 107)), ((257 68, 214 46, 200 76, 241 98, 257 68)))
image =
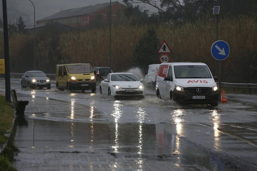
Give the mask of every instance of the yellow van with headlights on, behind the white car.
POLYGON ((57 89, 96 90, 95 74, 90 64, 56 65, 55 84, 57 89))

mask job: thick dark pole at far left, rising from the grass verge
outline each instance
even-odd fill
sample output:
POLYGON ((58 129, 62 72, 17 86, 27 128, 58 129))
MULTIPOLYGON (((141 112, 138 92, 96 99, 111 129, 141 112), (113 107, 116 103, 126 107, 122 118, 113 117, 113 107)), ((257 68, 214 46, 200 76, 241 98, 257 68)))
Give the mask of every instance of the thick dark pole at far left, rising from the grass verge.
POLYGON ((11 83, 10 83, 10 65, 9 65, 9 44, 7 27, 7 5, 3 0, 3 27, 4 27, 4 49, 5 49, 5 100, 11 102, 11 83))

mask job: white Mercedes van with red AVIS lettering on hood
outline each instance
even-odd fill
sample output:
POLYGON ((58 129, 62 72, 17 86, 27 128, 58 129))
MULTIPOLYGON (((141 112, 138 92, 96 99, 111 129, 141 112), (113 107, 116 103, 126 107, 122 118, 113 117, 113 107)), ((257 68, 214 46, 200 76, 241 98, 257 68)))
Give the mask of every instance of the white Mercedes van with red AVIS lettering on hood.
POLYGON ((156 77, 158 98, 179 103, 218 105, 218 87, 204 63, 171 62, 160 64, 156 77))

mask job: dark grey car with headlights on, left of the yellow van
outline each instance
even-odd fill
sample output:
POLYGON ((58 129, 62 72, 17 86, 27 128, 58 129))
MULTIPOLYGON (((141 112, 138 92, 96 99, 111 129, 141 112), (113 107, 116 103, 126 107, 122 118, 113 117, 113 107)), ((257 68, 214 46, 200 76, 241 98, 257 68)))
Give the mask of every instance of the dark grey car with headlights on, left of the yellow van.
POLYGON ((21 87, 51 88, 50 79, 43 71, 26 71, 21 77, 21 87))

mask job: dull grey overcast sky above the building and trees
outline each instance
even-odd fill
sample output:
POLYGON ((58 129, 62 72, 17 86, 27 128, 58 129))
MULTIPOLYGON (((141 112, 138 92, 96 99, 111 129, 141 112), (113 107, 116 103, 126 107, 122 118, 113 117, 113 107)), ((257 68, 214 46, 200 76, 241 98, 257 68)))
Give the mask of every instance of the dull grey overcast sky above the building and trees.
MULTIPOLYGON (((15 24, 21 16, 26 26, 33 25, 34 8, 29 0, 6 0, 7 1, 7 18, 8 24, 15 24)), ((35 5, 36 21, 45 18, 49 15, 59 12, 60 10, 72 9, 77 7, 86 7, 89 5, 101 4, 110 2, 109 0, 31 0, 35 5)), ((112 0, 112 2, 115 0, 112 0)), ((122 0, 118 0, 122 3, 122 0)), ((0 3, 1 20, 3 20, 3 7, 0 3)), ((137 5, 137 4, 136 4, 137 5)), ((143 6, 146 6, 142 4, 143 6)), ((145 9, 154 9, 149 7, 145 9)))

